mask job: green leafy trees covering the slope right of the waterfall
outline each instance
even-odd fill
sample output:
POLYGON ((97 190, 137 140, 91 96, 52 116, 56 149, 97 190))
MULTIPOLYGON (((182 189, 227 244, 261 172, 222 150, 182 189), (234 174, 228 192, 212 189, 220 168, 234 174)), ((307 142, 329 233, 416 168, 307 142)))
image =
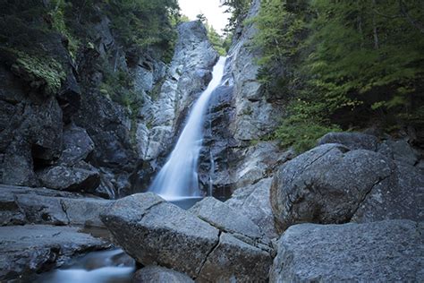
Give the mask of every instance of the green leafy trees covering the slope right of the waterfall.
POLYGON ((420 1, 265 0, 254 21, 260 79, 289 102, 284 145, 307 149, 303 131, 424 126, 420 1))

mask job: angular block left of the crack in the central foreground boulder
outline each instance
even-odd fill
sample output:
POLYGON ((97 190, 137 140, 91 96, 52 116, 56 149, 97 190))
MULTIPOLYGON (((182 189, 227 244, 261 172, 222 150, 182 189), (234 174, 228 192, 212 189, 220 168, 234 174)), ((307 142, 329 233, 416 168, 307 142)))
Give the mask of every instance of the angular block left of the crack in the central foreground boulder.
POLYGON ((216 228, 154 193, 116 201, 101 218, 138 262, 172 266, 192 278, 218 241, 216 228))

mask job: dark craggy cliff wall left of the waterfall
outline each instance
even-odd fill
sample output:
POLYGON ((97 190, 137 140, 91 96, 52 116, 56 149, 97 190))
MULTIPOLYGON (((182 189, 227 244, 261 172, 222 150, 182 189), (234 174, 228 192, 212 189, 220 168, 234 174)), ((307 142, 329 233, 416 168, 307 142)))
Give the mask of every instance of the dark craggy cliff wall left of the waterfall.
POLYGON ((174 59, 167 65, 154 49, 133 54, 123 47, 107 16, 96 11, 98 20, 86 26, 93 38, 73 58, 55 32, 34 43, 64 67, 53 92, 2 52, 0 184, 106 198, 140 192, 211 79, 217 54, 199 21, 178 28, 174 59), (104 89, 105 68, 131 79, 129 91, 142 101, 140 109, 111 99, 104 89))

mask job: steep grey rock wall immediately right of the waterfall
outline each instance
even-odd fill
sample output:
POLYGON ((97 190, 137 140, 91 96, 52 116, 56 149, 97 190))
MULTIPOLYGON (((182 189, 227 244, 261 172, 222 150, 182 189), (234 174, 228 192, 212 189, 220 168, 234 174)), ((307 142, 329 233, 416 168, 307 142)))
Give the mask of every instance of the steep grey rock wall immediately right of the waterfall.
MULTIPOLYGON (((260 0, 252 1, 247 19, 256 16, 259 8, 260 0)), ((260 52, 252 47, 256 32, 253 23, 235 30, 225 84, 211 99, 199 176, 204 190, 219 198, 272 176, 272 168, 291 157, 276 142, 259 142, 276 129, 284 107, 276 99, 267 99, 258 81, 255 60, 260 52)))

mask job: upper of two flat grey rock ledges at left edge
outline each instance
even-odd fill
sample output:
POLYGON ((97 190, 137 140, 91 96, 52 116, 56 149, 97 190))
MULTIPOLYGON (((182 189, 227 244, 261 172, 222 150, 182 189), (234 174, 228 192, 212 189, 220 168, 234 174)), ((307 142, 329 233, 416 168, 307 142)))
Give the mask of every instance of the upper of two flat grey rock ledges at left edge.
POLYGON ((21 224, 104 227, 109 201, 45 188, 0 185, 0 226, 21 224))

